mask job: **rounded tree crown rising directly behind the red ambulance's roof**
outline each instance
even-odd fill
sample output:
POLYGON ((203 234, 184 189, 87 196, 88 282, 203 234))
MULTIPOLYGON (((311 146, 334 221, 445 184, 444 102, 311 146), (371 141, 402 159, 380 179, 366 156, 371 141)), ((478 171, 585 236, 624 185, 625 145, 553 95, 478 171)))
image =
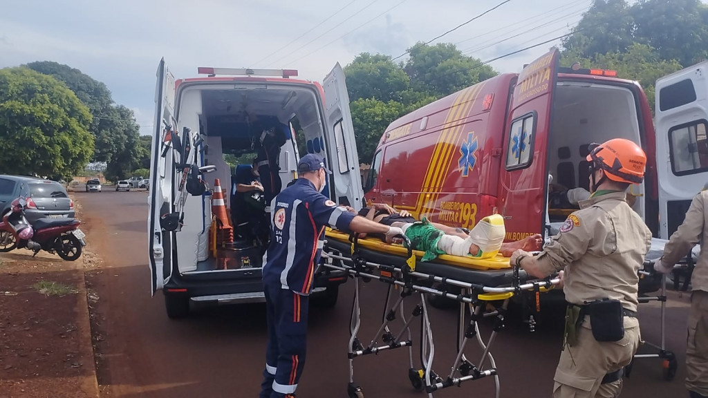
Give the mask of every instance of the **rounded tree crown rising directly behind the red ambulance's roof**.
POLYGON ((411 89, 436 98, 497 74, 489 65, 481 65, 479 59, 463 55, 452 43, 431 46, 419 42, 409 49, 409 55, 404 70, 411 78, 411 89))

